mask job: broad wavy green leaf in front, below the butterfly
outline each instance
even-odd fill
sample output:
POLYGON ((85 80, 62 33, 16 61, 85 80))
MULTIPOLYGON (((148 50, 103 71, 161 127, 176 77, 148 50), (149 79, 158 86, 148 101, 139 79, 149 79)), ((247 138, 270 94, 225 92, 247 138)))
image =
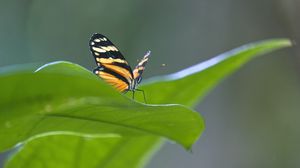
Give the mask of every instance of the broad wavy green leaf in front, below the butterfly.
POLYGON ((44 69, 0 76, 1 151, 47 134, 155 135, 190 148, 203 131, 199 114, 184 106, 134 102, 71 63, 44 69))

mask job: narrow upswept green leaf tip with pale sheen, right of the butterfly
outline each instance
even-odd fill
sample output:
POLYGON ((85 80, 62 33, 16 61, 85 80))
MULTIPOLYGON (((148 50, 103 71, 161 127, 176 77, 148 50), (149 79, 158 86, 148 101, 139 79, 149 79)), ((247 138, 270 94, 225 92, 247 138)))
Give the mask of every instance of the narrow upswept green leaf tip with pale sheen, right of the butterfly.
POLYGON ((250 43, 179 72, 149 79, 142 89, 147 91, 147 101, 153 104, 194 106, 220 80, 251 59, 288 46, 291 46, 288 39, 250 43))

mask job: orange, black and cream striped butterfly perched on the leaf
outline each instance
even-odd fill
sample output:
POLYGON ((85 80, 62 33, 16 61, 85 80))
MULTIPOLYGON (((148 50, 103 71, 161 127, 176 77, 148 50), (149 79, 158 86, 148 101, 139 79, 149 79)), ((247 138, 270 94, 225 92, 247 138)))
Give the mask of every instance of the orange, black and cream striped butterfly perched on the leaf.
POLYGON ((89 46, 97 63, 97 67, 93 71, 97 76, 112 85, 119 92, 132 91, 133 99, 135 91, 142 91, 144 100, 146 100, 144 91, 137 89, 137 86, 142 81, 142 73, 148 62, 150 51, 146 52, 132 70, 119 49, 104 35, 93 34, 89 46))

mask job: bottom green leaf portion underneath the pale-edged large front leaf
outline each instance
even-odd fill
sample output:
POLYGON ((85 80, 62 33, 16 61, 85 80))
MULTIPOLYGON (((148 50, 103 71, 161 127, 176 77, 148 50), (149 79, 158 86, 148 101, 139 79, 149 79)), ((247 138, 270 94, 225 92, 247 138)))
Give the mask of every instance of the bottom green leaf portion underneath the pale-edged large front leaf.
MULTIPOLYGON (((55 135, 26 143, 7 168, 142 167, 156 147, 156 137, 86 138, 55 135), (138 146, 135 147, 135 146, 138 146), (145 153, 145 152, 148 152, 145 153), (117 160, 117 161, 116 161, 117 160)), ((157 143, 157 148, 161 143, 157 143)))

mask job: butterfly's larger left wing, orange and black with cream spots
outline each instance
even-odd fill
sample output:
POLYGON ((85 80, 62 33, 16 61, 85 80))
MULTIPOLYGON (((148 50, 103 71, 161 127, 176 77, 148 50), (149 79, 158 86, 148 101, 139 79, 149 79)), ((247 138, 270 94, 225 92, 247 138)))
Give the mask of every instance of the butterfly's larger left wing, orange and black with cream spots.
POLYGON ((118 91, 127 91, 132 83, 133 74, 119 49, 101 34, 94 34, 89 45, 98 66, 94 73, 118 91))

